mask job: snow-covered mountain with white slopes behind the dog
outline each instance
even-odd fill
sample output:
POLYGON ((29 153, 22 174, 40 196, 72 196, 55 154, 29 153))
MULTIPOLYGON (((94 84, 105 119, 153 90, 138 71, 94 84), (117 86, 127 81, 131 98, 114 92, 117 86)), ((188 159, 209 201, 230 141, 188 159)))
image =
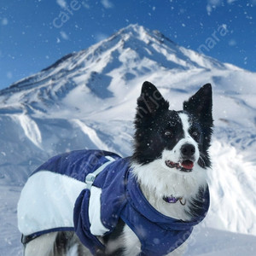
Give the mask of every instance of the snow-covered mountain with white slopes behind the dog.
POLYGON ((131 154, 132 121, 145 80, 157 85, 176 110, 201 85, 212 83, 212 205, 204 223, 207 229, 256 236, 256 73, 131 25, 0 90, 0 188, 5 191, 0 251, 12 247, 12 255, 20 253, 13 246, 19 236, 15 204, 27 176, 44 160, 78 148, 131 154))

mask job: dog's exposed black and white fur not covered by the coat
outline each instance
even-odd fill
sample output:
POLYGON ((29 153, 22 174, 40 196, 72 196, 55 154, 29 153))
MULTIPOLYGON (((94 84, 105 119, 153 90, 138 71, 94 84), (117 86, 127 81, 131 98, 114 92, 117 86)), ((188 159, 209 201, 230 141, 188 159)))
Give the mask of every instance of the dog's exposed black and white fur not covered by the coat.
MULTIPOLYGON (((137 99, 135 118, 133 173, 143 195, 162 214, 190 220, 201 206, 201 189, 207 186, 207 168, 211 166, 208 148, 212 135, 212 87, 205 84, 183 111, 169 110, 169 103, 154 84, 145 82, 137 99), (185 201, 168 203, 166 196, 185 201)), ((100 237, 105 252, 97 255, 135 256, 140 241, 131 229, 119 220, 111 235, 100 237)), ((183 255, 186 242, 168 255, 183 255)), ((25 256, 91 255, 73 232, 54 232, 26 244, 25 256)))

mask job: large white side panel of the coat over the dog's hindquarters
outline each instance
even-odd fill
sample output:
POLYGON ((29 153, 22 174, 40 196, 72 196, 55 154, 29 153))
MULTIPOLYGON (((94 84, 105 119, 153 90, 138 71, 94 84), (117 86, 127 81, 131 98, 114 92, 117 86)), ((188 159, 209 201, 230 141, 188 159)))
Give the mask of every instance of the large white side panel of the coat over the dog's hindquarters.
POLYGON ((55 172, 29 177, 18 202, 18 228, 25 235, 73 227, 73 207, 85 183, 55 172))

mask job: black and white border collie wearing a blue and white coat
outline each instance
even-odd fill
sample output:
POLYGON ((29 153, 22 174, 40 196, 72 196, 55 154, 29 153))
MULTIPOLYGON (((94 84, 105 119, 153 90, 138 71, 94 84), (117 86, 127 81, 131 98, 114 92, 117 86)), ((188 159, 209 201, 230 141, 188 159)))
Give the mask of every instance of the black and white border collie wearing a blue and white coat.
POLYGON ((211 84, 168 108, 145 82, 131 157, 76 150, 32 173, 18 203, 25 256, 183 255, 209 207, 211 84))

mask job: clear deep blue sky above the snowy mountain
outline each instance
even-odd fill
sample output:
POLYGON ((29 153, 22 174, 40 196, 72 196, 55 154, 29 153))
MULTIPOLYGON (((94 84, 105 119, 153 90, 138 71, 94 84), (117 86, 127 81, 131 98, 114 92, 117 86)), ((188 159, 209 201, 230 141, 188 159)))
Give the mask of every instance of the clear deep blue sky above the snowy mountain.
POLYGON ((135 23, 256 72, 255 19, 256 0, 1 0, 0 89, 135 23))

